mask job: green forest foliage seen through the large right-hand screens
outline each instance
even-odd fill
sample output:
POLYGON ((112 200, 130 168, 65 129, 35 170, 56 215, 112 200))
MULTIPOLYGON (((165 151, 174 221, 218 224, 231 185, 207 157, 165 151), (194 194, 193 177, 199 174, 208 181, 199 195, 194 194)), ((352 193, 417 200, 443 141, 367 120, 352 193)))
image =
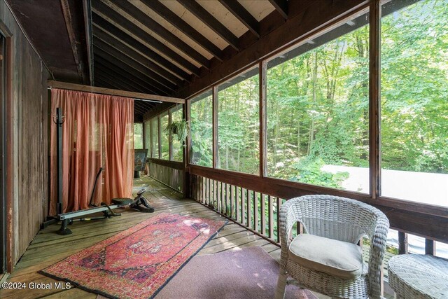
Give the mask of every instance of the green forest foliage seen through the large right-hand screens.
MULTIPOLYGON (((447 15, 447 1, 423 0, 381 19, 383 169, 448 173, 447 15)), ((268 62, 268 176, 343 188, 348 174, 324 165, 369 167, 369 26, 333 38, 268 62)), ((243 76, 219 87, 218 167, 258 174, 258 76, 243 76)), ((195 101, 190 123, 192 162, 209 167, 211 106, 195 101)))

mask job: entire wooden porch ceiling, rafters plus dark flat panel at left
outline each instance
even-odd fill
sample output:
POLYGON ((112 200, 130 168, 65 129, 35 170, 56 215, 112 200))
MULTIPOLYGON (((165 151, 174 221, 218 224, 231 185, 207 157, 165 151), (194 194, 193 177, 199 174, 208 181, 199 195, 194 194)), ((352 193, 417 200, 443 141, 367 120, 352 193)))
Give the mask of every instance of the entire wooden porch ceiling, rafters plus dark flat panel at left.
MULTIPOLYGON (((40 0, 7 1, 53 80, 153 95, 176 95, 225 64, 285 22, 289 4, 287 0, 49 0, 45 5, 40 0)), ((141 118, 155 104, 135 106, 141 118)))

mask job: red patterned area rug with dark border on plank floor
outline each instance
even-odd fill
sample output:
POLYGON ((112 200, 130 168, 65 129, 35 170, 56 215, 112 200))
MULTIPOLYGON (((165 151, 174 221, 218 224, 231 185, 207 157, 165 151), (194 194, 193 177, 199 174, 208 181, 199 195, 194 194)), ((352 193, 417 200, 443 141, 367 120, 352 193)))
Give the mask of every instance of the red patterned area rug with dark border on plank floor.
POLYGON ((41 273, 109 298, 153 298, 226 222, 162 213, 41 273))

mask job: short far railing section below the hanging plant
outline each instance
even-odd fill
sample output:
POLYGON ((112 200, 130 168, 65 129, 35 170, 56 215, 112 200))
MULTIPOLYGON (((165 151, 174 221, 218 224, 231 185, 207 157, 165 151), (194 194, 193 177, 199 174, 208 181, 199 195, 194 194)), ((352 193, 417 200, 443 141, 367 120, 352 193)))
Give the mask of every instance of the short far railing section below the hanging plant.
POLYGON ((153 179, 183 193, 185 180, 182 162, 149 158, 148 168, 153 179))

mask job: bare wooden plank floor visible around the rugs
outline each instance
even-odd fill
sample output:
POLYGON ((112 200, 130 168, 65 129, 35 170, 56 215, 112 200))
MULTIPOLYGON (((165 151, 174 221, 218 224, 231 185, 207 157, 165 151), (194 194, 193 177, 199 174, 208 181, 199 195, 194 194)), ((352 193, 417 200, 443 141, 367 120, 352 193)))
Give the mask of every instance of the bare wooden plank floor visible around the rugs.
MULTIPOLYGON (((141 221, 151 218, 162 212, 176 213, 203 218, 223 219, 222 216, 211 211, 202 204, 194 200, 184 200, 180 193, 167 188, 158 181, 149 178, 135 179, 134 191, 140 186, 148 186, 145 197, 155 207, 155 212, 151 214, 139 211, 125 210, 122 216, 113 217, 91 222, 73 223, 69 228, 72 235, 61 236, 55 232, 60 225, 50 225, 48 228, 38 232, 38 235, 29 245, 20 261, 15 266, 15 270, 8 277, 10 282, 21 283, 45 283, 55 282, 55 279, 45 277, 38 273, 59 260, 70 256, 88 246, 100 242, 116 233, 132 227, 141 221)), ((280 249, 278 246, 267 242, 252 232, 241 228, 241 226, 229 221, 228 225, 216 235, 198 255, 217 253, 226 250, 235 250, 247 246, 262 246, 272 257, 279 260, 280 249)), ((69 290, 50 289, 21 289, 4 290, 0 289, 0 298, 96 298, 97 295, 83 291, 80 288, 72 287, 69 290)))

